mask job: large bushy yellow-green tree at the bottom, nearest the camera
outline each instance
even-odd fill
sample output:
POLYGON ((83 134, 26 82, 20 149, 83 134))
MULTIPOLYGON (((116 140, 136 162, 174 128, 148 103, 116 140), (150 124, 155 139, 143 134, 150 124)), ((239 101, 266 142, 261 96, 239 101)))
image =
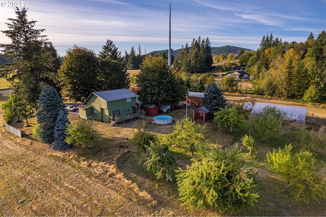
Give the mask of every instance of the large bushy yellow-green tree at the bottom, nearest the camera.
POLYGON ((188 209, 212 208, 234 211, 254 205, 259 197, 257 171, 244 164, 236 146, 215 148, 191 166, 177 171, 177 185, 183 205, 188 209))

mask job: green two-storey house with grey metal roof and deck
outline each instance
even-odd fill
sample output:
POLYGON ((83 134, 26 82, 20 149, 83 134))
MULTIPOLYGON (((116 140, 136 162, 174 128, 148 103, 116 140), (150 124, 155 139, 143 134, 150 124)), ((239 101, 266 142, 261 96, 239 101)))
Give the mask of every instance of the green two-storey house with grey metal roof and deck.
POLYGON ((137 109, 138 95, 122 88, 93 92, 86 101, 79 105, 79 116, 84 119, 103 120, 119 123, 139 117, 137 109))

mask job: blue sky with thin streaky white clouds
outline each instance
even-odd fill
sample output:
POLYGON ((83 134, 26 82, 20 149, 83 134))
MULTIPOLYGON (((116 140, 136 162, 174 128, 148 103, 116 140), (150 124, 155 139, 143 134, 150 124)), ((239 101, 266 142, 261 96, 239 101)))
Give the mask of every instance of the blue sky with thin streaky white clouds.
MULTIPOLYGON (((6 1, 3 1, 6 2, 6 1)), ((7 5, 9 1, 6 2, 7 5)), ((59 55, 73 45, 98 53, 107 39, 119 50, 168 49, 208 37, 212 47, 232 45, 256 50, 264 35, 304 42, 326 30, 325 0, 34 0, 23 1, 36 29, 45 29, 59 55)), ((0 30, 7 30, 13 7, 0 6, 0 30)), ((0 43, 10 43, 0 33, 0 43)))

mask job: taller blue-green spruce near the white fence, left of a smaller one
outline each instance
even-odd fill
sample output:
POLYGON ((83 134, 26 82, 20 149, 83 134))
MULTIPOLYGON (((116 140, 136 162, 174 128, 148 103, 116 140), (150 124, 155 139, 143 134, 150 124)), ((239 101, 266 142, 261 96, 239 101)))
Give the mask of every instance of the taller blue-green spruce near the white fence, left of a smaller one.
POLYGON ((54 130, 59 112, 64 110, 63 99, 53 87, 44 88, 40 94, 36 112, 40 126, 40 140, 50 144, 55 141, 54 130))

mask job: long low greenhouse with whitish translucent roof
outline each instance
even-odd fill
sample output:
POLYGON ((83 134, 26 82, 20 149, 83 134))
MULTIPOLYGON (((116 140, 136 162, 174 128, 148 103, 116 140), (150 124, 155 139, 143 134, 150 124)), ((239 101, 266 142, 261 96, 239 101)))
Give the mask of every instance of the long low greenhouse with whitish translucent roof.
POLYGON ((306 119, 308 110, 307 110, 307 108, 304 108, 304 107, 256 102, 252 108, 251 114, 261 113, 262 109, 265 106, 273 106, 273 107, 278 108, 279 110, 286 112, 285 119, 292 120, 293 122, 297 122, 300 124, 305 123, 305 119, 306 119))

